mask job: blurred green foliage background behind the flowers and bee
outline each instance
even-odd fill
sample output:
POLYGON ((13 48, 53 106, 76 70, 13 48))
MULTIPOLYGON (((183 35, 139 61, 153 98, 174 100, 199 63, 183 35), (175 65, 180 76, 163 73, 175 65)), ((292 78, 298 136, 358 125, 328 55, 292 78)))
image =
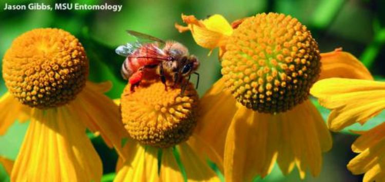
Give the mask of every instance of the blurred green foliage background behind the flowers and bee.
MULTIPOLYGON (((0 57, 9 48, 18 35, 33 28, 62 28, 80 39, 90 59, 89 79, 94 82, 112 80, 114 87, 108 92, 111 98, 119 98, 125 86, 120 76, 124 57, 114 53, 114 48, 133 41, 126 29, 137 30, 162 39, 174 39, 186 45, 190 53, 197 55, 201 61, 199 73, 201 80, 199 94, 202 95, 221 76, 217 59, 217 50, 207 56, 208 50, 197 46, 190 33, 178 33, 174 23, 182 23, 181 13, 194 14, 205 18, 212 14, 222 14, 229 22, 245 16, 262 12, 280 12, 299 19, 312 32, 319 43, 321 52, 332 51, 337 47, 351 52, 370 69, 377 79, 385 76, 385 1, 370 0, 215 0, 215 1, 98 1, 78 0, 70 3, 119 4, 121 12, 112 11, 4 11, 4 4, 29 4, 31 1, 1 1, 0 3, 0 57)), ((55 1, 33 1, 54 6, 55 1)), ((66 3, 56 1, 56 3, 66 3)), ((1 60, 1 59, 0 59, 1 60)), ((1 72, 1 70, 0 70, 1 72)), ((192 77, 193 83, 196 78, 192 77)), ((0 94, 6 92, 4 80, 0 79, 0 94)), ((318 107, 326 118, 328 110, 318 107)), ((1 111, 0 111, 1 112, 1 111)), ((348 129, 369 129, 385 119, 381 113, 363 127, 354 125, 348 129)), ((4 136, 0 136, 0 155, 14 159, 22 143, 28 123, 15 123, 4 136)), ((104 164, 104 181, 111 181, 117 154, 108 149, 99 137, 92 137, 92 143, 102 157, 104 164)), ((322 172, 319 177, 307 174, 305 181, 361 181, 362 175, 352 175, 347 169, 348 161, 355 156, 350 145, 357 136, 344 130, 333 133, 334 147, 324 154, 322 172)), ((257 181, 261 179, 257 178, 257 181)), ((278 167, 263 181, 299 181, 295 170, 284 177, 278 167)), ((9 181, 0 165, 0 181, 9 181)))

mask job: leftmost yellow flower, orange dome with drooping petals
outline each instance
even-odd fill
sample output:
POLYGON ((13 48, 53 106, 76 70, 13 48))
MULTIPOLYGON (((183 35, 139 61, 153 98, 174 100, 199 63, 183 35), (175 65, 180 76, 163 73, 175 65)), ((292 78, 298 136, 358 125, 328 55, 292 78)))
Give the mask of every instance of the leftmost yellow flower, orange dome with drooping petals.
POLYGON ((119 108, 103 94, 110 83, 93 84, 87 75, 83 46, 64 30, 34 29, 13 41, 3 58, 8 92, 0 99, 0 134, 17 118, 29 117, 30 124, 12 181, 101 179, 101 159, 86 128, 118 151, 126 133, 119 108))

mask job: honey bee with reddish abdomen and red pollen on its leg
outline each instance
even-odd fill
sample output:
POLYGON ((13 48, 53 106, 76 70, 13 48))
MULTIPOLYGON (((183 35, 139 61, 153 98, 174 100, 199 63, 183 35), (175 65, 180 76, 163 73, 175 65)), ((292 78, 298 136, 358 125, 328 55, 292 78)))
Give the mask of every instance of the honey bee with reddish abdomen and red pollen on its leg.
MULTIPOLYGON (((188 49, 175 41, 163 41, 160 38, 140 32, 127 30, 127 33, 137 37, 138 41, 119 46, 115 52, 125 56, 121 73, 131 84, 131 91, 138 86, 144 74, 157 74, 166 87, 166 75, 172 78, 174 87, 182 82, 183 77, 190 79, 192 73, 199 67, 199 60, 189 55, 188 49)), ((183 91, 183 88, 182 88, 183 91)))

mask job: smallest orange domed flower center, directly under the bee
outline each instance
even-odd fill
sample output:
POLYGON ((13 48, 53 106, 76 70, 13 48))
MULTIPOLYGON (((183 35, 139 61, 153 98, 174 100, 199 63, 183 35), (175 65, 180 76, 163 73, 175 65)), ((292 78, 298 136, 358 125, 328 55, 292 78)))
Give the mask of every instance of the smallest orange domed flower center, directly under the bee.
POLYGON ((181 89, 157 81, 142 81, 130 91, 128 85, 121 98, 122 119, 129 135, 140 143, 166 148, 181 143, 196 126, 198 94, 188 84, 181 89))

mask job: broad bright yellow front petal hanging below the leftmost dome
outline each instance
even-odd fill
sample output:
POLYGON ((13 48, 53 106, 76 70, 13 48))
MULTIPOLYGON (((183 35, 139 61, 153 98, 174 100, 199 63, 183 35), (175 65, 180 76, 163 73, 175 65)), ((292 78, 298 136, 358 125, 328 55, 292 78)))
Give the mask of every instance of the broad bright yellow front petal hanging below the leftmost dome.
POLYGON ((85 126, 65 107, 35 109, 12 181, 99 181, 102 163, 85 126))

